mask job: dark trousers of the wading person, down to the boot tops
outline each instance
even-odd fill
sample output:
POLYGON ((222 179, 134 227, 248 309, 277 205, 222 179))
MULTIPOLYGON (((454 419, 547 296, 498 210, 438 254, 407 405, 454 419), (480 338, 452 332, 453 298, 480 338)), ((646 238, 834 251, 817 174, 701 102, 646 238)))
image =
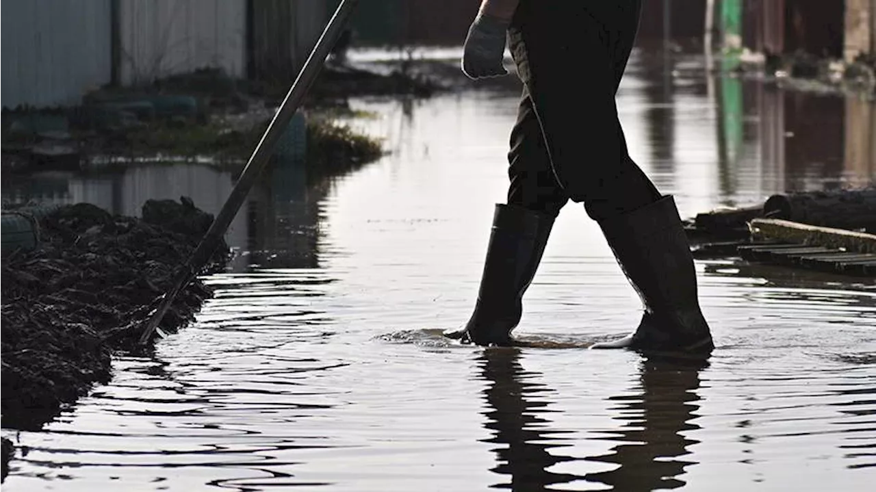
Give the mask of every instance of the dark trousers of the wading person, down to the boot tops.
POLYGON ((522 0, 509 30, 524 82, 508 153, 508 203, 556 215, 583 202, 600 221, 660 193, 630 158, 615 95, 641 0, 522 0))

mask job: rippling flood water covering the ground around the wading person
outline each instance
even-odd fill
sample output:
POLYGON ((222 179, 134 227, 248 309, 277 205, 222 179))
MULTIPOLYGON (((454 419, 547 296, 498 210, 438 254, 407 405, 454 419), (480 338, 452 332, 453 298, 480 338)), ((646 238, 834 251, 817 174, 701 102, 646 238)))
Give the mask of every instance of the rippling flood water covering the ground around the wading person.
MULTIPOLYGON (((672 68, 637 55, 618 103, 682 216, 872 179, 872 106, 710 80, 696 57, 672 68)), ((569 204, 515 332, 554 348, 442 339, 477 294, 516 98, 352 102, 392 154, 313 187, 277 171, 230 232, 252 253, 208 278, 197 322, 22 432, 3 490, 871 490, 872 281, 697 262, 709 367, 589 351, 631 330, 639 301, 569 204)), ((136 214, 188 194, 215 212, 231 186, 190 165, 43 179, 6 198, 136 214)))

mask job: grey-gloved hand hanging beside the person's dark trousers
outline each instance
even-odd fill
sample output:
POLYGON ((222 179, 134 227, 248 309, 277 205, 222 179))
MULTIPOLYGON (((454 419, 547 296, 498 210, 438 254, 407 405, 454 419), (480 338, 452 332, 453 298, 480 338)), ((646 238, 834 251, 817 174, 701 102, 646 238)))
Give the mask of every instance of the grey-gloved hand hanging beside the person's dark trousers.
POLYGON ((473 80, 508 74, 502 60, 510 24, 508 20, 484 12, 477 14, 463 46, 463 74, 473 80))

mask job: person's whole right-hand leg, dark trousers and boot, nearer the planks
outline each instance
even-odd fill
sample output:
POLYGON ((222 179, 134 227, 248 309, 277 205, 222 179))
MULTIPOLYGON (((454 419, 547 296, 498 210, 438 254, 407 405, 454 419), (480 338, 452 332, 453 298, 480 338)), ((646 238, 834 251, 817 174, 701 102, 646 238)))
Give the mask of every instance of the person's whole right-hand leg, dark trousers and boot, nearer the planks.
POLYGON ((638 26, 639 0, 523 0, 510 30, 551 170, 603 229, 646 313, 603 348, 708 354, 696 272, 675 201, 630 158, 615 95, 638 26))

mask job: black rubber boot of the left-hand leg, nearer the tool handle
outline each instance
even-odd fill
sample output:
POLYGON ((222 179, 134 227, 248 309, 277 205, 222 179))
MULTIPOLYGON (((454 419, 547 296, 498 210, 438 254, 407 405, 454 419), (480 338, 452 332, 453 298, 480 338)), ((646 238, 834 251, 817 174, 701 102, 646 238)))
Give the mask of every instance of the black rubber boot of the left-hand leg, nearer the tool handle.
POLYGON ((554 217, 515 205, 496 206, 475 312, 464 327, 444 336, 477 345, 512 345, 523 313, 523 293, 533 281, 554 217))

